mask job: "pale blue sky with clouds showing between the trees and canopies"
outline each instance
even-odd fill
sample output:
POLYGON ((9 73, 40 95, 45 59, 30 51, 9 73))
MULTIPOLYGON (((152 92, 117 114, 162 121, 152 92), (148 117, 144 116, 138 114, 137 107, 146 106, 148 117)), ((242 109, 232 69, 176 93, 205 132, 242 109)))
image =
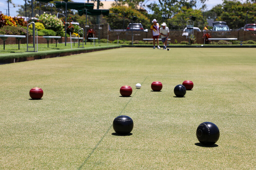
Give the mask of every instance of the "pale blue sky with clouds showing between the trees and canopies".
MULTIPOLYGON (((25 4, 24 0, 12 0, 12 1, 14 4, 16 4, 16 6, 25 4)), ((107 0, 107 1, 111 1, 111 0, 107 0)), ((157 2, 157 0, 150 0, 147 4, 153 3, 155 1, 157 2)), ((74 2, 87 2, 87 0, 74 0, 74 2)), ((208 9, 211 9, 213 6, 217 4, 222 4, 222 0, 208 0, 206 2, 208 9)), ((6 15, 6 9, 8 9, 7 0, 0 0, 0 11, 2 11, 2 13, 6 15)), ((17 16, 16 11, 19 9, 19 7, 14 8, 13 5, 10 4, 9 9, 10 9, 10 16, 17 16)))

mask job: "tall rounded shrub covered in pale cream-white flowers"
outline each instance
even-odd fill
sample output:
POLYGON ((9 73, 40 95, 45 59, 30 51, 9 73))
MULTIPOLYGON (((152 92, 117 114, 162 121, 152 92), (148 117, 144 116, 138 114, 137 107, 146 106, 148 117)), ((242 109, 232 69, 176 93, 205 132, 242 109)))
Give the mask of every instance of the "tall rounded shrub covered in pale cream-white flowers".
POLYGON ((58 19, 55 15, 42 14, 39 16, 36 15, 38 21, 43 23, 45 28, 48 30, 53 30, 57 33, 57 36, 64 36, 63 22, 61 19, 58 19))

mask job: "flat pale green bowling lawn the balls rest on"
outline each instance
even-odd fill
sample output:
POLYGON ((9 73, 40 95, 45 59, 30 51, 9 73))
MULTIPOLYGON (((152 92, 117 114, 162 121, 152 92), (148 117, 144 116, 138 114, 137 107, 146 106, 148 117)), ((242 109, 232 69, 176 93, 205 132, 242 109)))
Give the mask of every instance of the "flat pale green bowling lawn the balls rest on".
POLYGON ((254 169, 255 68, 254 48, 118 48, 0 65, 0 169, 254 169), (193 90, 174 97, 184 80, 193 90), (120 97, 123 85, 132 97, 120 97), (42 100, 30 100, 36 86, 42 100), (118 115, 132 117, 132 135, 112 135, 118 115), (220 129, 215 147, 198 144, 205 121, 220 129))

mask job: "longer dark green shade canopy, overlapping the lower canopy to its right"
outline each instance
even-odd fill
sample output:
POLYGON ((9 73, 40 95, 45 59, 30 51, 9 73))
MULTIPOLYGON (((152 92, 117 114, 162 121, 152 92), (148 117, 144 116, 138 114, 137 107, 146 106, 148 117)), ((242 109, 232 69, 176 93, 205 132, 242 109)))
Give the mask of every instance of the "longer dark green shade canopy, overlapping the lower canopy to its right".
MULTIPOLYGON (((65 8, 66 7, 66 2, 54 1, 54 3, 55 3, 56 8, 60 8, 60 7, 65 8)), ((84 8, 93 9, 93 7, 94 7, 93 3, 67 2, 68 9, 76 9, 76 10, 84 9, 84 8)))

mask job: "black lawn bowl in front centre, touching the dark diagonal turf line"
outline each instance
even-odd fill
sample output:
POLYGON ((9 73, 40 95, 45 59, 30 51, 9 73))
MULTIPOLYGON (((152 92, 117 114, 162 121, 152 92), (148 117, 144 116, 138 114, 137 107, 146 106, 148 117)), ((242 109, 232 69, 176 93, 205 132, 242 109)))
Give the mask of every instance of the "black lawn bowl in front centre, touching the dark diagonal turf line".
POLYGON ((132 132, 133 120, 129 116, 117 116, 113 121, 113 129, 116 133, 125 135, 132 132))

